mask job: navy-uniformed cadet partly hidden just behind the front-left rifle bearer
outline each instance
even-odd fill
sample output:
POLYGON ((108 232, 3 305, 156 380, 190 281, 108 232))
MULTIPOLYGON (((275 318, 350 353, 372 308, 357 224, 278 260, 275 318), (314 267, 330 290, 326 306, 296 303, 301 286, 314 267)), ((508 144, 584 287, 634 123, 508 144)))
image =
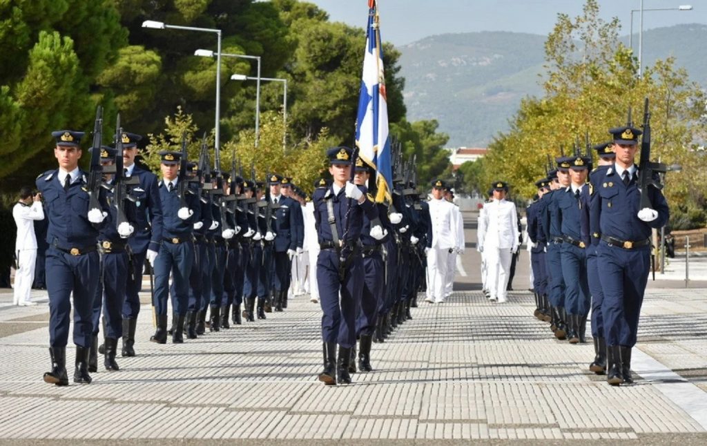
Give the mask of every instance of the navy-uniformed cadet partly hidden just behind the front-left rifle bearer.
MULTIPOLYGON (((117 151, 115 148, 102 146, 100 148, 100 163, 103 166, 114 165, 117 151)), ((114 184, 114 175, 104 175, 106 184, 114 184)), ((115 197, 115 191, 107 192, 108 202, 115 197)), ((117 206, 110 206, 110 218, 117 220, 117 206)), ((135 221, 134 206, 124 210, 128 221, 135 221)), ((115 362, 118 339, 122 336, 121 310, 125 298, 127 278, 131 274, 127 239, 134 233, 134 225, 122 222, 119 227, 104 225, 98 235, 98 250, 100 252, 100 280, 93 300, 93 339, 91 340, 88 371, 98 371, 98 331, 100 312, 103 308, 103 365, 105 370, 119 370, 115 362)))

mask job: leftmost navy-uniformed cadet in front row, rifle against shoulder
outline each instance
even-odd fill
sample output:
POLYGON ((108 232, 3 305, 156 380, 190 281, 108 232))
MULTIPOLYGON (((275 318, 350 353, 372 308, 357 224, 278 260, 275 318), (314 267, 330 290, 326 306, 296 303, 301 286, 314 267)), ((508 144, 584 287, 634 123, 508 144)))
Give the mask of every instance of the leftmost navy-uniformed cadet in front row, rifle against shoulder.
MULTIPOLYGON (((45 200, 47 229, 47 291, 49 293, 49 354, 52 370, 45 382, 69 385, 66 376, 66 344, 69 340, 70 296, 74 295, 74 382, 89 383, 88 354, 93 323, 91 310, 98 287, 98 228, 110 223, 103 192, 102 209, 88 209, 90 196, 86 173, 78 168, 83 132, 53 131, 57 140, 54 156, 59 168, 37 177, 37 189, 45 200), (105 221, 107 220, 107 221, 105 221)), ((103 188, 101 188, 103 189, 103 188)))

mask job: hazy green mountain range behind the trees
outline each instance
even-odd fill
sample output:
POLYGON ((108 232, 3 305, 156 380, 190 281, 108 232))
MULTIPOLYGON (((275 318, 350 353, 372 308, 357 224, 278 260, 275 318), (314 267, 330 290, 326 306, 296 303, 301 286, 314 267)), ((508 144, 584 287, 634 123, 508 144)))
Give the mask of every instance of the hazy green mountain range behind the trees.
MULTIPOLYGON (((518 110, 521 98, 542 95, 547 36, 509 32, 443 34, 398 47, 410 121, 437 119, 447 146, 486 146, 518 110)), ((621 41, 629 45, 629 36, 621 41)), ((643 60, 675 57, 692 81, 707 87, 707 25, 643 32, 643 60)), ((638 53, 638 34, 633 35, 638 53)))

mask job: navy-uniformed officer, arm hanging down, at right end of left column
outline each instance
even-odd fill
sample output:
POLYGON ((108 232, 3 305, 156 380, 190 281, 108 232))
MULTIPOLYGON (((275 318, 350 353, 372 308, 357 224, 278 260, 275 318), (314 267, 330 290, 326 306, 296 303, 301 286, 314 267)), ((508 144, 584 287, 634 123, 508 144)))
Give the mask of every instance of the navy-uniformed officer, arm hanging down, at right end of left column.
MULTIPOLYGON (((282 311, 283 305, 286 305, 287 291, 290 288, 290 262, 297 254, 300 230, 297 216, 299 204, 281 193, 281 182, 283 181, 281 175, 272 175, 269 181, 270 202, 268 205, 271 206, 275 217, 274 221, 270 223, 274 225, 271 232, 276 234, 274 243, 272 243, 275 311, 282 311)), ((287 189, 289 191, 289 182, 287 189)))

